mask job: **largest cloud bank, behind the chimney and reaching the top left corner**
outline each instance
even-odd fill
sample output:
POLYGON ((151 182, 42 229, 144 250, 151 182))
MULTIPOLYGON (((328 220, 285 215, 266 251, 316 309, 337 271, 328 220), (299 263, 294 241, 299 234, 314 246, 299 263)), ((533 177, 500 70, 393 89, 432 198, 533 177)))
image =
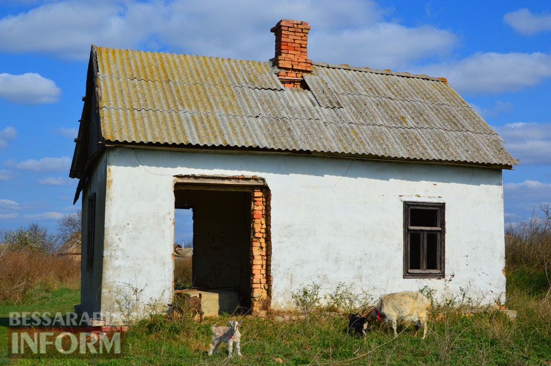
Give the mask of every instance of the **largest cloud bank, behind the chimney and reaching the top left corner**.
POLYGON ((385 23, 390 12, 366 0, 60 1, 0 19, 0 34, 7 35, 0 50, 85 61, 95 43, 267 61, 274 56, 269 29, 279 19, 308 21, 309 57, 328 63, 397 68, 445 54, 456 42, 433 26, 385 23))

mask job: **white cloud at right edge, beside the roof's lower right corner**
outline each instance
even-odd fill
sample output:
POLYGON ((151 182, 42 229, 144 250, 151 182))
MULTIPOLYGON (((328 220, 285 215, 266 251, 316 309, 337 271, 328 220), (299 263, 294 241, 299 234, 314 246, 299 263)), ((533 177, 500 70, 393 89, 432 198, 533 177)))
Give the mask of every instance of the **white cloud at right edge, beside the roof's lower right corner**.
POLYGON ((493 127, 521 165, 551 164, 551 123, 509 123, 493 127))

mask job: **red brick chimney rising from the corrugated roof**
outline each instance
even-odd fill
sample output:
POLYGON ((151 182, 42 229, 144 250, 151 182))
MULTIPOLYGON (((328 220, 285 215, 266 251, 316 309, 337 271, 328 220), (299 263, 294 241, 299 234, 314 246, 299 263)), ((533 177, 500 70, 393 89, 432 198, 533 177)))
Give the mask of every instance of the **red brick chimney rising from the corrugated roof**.
POLYGON ((282 19, 270 31, 276 34, 274 64, 281 70, 279 80, 288 88, 300 88, 302 75, 312 72, 312 60, 306 55, 310 26, 305 21, 282 19))

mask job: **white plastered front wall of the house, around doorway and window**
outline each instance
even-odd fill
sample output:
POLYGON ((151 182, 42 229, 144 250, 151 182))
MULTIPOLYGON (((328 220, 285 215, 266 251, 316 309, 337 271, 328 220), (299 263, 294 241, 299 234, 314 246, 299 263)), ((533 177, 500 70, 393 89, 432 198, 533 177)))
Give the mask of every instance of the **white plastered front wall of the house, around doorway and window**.
MULTIPOLYGON (((107 161, 105 293, 126 283, 142 291, 142 303, 170 301, 177 174, 266 179, 272 193, 273 308, 291 306, 291 293, 312 282, 322 285, 322 294, 339 282, 375 296, 428 286, 437 296, 464 293, 484 303, 505 292, 500 170, 116 148, 107 161), (404 200, 446 203, 446 278, 403 278, 404 200)), ((103 294, 102 309, 112 301, 103 294)))

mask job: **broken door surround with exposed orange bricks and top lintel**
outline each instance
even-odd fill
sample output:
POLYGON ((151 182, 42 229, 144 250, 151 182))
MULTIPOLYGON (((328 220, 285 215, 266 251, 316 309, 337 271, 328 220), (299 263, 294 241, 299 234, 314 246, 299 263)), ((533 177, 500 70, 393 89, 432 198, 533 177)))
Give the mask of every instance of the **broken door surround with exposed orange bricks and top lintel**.
POLYGON ((267 310, 272 297, 271 192, 257 176, 175 176, 174 189, 228 190, 251 193, 251 312, 267 310))

